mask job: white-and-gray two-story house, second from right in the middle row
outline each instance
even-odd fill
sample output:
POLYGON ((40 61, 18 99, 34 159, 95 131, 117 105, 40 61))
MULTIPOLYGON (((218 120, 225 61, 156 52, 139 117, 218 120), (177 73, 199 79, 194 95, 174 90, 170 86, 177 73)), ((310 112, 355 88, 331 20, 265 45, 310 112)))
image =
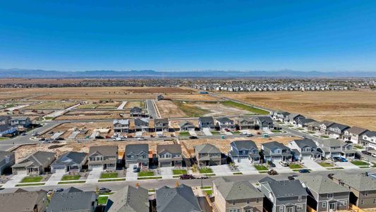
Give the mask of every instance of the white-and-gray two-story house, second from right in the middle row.
POLYGON ((321 152, 317 151, 317 145, 312 139, 298 139, 289 142, 289 148, 295 153, 296 160, 310 158, 321 159, 321 152))

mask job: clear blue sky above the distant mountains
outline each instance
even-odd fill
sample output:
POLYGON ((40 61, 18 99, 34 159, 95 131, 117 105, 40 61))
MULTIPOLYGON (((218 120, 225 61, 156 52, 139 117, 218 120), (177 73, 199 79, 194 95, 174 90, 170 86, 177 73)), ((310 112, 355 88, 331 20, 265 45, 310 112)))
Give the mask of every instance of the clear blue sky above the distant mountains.
POLYGON ((1 1, 0 68, 376 71, 376 1, 1 1))

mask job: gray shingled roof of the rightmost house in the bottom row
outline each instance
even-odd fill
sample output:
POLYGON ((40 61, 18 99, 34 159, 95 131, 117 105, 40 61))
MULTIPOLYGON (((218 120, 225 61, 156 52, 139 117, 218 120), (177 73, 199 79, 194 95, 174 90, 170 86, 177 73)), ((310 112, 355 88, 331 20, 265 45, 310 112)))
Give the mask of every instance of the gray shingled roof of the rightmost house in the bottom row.
POLYGON ((376 179, 363 174, 348 174, 344 172, 338 172, 333 175, 335 179, 340 179, 345 184, 350 187, 357 189, 360 192, 364 191, 375 191, 376 190, 376 179))

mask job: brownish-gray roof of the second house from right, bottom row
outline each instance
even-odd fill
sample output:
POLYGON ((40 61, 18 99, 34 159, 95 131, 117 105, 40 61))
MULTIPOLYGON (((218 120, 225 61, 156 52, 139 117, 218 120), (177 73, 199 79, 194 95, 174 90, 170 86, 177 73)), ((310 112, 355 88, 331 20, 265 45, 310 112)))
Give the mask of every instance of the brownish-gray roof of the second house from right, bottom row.
POLYGON ((337 192, 350 192, 350 189, 342 187, 329 179, 327 176, 322 175, 301 175, 298 177, 305 184, 308 189, 313 190, 317 194, 337 193, 337 192))

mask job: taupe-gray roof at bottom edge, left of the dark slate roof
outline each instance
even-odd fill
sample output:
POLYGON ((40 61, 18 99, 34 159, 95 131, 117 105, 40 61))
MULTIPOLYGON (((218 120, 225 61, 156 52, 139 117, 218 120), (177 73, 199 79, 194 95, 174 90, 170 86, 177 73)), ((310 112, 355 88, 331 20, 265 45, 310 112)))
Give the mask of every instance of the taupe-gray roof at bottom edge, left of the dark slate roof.
POLYGON ((109 196, 107 212, 149 212, 149 194, 142 187, 126 186, 109 196))

